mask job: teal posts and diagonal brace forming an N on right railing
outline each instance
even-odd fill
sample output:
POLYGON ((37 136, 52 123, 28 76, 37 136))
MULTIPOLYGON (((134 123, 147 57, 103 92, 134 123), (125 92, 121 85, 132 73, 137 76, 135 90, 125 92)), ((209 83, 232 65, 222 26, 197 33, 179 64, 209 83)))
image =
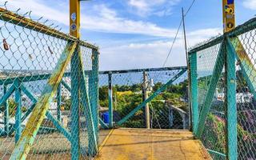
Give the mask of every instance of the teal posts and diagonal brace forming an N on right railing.
MULTIPOLYGON (((216 45, 216 44, 215 44, 216 45)), ((198 50, 199 51, 199 50, 198 50)), ((226 75, 226 158, 238 159, 237 147, 237 109, 236 109, 236 74, 235 74, 235 54, 228 45, 227 38, 224 38, 218 56, 214 64, 210 86, 206 94, 205 102, 198 119, 198 80, 196 62, 196 52, 190 53, 190 68, 191 68, 191 102, 192 102, 192 119, 194 134, 197 138, 202 137, 207 114, 210 112, 211 102, 214 98, 214 92, 218 85, 218 81, 222 76, 223 67, 225 67, 226 75), (198 124, 196 123, 198 122, 198 124)), ((211 154, 223 155, 214 150, 209 150, 211 154)))

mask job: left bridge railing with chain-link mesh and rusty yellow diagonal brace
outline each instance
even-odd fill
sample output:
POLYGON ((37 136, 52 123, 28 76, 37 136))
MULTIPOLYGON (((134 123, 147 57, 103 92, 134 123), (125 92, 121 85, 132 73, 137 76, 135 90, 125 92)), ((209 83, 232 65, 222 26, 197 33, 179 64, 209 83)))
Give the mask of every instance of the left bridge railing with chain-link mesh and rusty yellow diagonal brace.
POLYGON ((98 152, 98 47, 0 8, 0 158, 98 152))

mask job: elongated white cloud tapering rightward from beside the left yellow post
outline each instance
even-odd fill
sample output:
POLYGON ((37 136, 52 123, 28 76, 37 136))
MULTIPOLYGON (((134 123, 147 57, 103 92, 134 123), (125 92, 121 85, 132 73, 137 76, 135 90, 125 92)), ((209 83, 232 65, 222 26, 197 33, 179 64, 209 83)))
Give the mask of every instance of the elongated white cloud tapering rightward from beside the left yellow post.
POLYGON ((134 21, 127 18, 119 18, 117 14, 104 5, 96 6, 102 16, 82 16, 82 27, 102 32, 145 34, 160 37, 173 37, 175 31, 157 26, 151 22, 134 21))

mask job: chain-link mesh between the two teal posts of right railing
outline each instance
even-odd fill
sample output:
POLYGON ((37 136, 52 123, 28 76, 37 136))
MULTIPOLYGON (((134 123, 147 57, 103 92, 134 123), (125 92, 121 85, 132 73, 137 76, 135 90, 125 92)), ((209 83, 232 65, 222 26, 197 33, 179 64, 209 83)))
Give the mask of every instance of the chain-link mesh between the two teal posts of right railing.
MULTIPOLYGON (((218 151, 219 153, 226 154, 226 139, 223 122, 225 122, 225 69, 223 68, 221 76, 218 80, 214 80, 217 83, 215 89, 213 89, 210 84, 214 83, 211 80, 214 79, 214 69, 217 67, 222 67, 224 59, 222 59, 222 64, 216 64, 219 53, 222 52, 221 44, 210 46, 205 50, 200 50, 197 53, 197 64, 198 64, 198 109, 201 113, 202 108, 205 107, 207 93, 209 90, 214 90, 214 97, 210 103, 210 111, 207 114, 207 119, 205 122, 205 127, 202 132, 202 142, 208 150, 218 151), (217 82, 216 82, 217 81, 217 82)), ((218 157, 218 155, 211 154, 213 158, 218 157)))

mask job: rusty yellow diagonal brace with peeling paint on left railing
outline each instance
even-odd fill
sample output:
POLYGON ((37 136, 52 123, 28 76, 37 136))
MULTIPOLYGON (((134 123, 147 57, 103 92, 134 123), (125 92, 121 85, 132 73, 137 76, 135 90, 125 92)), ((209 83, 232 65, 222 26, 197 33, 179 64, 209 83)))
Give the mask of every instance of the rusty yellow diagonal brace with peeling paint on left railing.
POLYGON ((70 62, 76 46, 77 42, 68 44, 66 49, 63 51, 62 56, 58 60, 58 64, 54 69, 54 73, 50 76, 50 79, 43 90, 42 97, 38 99, 38 102, 36 103, 34 110, 26 123, 25 129, 22 131, 22 136, 15 146, 10 159, 25 159, 27 154, 29 154, 30 146, 32 146, 34 142, 34 138, 38 133, 39 126, 41 126, 50 102, 54 98, 54 94, 57 92, 58 84, 63 77, 66 66, 70 62))

